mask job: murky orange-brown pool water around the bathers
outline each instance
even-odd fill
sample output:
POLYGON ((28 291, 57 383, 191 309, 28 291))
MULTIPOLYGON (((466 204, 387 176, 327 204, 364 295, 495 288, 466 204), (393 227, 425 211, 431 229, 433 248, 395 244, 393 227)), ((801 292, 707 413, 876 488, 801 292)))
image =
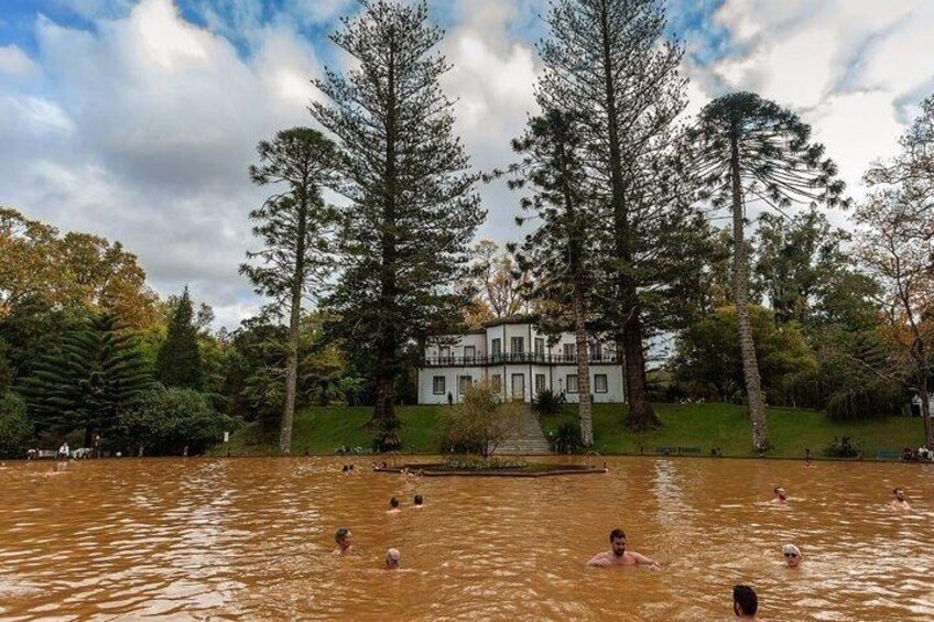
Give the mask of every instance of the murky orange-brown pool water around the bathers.
POLYGON ((932 466, 610 458, 596 476, 406 480, 341 463, 8 465, 0 619, 729 620, 737 582, 767 620, 934 618, 932 466), (775 484, 789 506, 768 503, 775 484), (887 506, 895 485, 911 512, 887 506), (338 526, 356 555, 333 554, 338 526), (585 567, 616 526, 663 569, 585 567), (381 569, 389 546, 409 571, 381 569))

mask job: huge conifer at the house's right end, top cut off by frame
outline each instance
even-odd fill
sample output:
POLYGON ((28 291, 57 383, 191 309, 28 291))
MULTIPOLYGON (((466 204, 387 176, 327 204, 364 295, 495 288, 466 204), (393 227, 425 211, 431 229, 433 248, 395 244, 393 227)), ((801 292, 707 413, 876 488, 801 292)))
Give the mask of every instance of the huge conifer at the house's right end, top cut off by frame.
POLYGON ((683 48, 664 40, 660 0, 554 0, 547 22, 539 103, 580 114, 594 198, 608 223, 599 314, 623 354, 629 427, 650 429, 661 422, 649 401, 644 341, 664 305, 650 310, 644 294, 673 291, 671 280, 681 276, 669 266, 677 262, 660 255, 678 252, 672 233, 688 229, 680 222, 689 217, 664 187, 672 171, 660 164, 686 105, 683 48))

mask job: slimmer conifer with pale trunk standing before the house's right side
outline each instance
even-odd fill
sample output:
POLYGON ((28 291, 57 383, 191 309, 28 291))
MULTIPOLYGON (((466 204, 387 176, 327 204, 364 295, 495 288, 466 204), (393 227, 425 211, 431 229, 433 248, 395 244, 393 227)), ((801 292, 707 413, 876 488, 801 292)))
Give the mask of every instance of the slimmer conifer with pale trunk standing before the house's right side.
MULTIPOLYGON (((554 308, 571 307, 577 345, 577 415, 582 438, 589 447, 594 445, 594 417, 587 324, 596 266, 594 254, 587 251, 594 245, 596 219, 588 195, 580 119, 573 112, 547 110, 529 119, 525 134, 512 146, 522 155, 522 163, 517 167, 520 177, 510 185, 531 186, 533 194, 523 198, 522 207, 540 223, 525 236, 518 255, 520 266, 533 274, 532 298, 560 303, 554 308)), ((563 324, 565 318, 550 319, 563 324)))

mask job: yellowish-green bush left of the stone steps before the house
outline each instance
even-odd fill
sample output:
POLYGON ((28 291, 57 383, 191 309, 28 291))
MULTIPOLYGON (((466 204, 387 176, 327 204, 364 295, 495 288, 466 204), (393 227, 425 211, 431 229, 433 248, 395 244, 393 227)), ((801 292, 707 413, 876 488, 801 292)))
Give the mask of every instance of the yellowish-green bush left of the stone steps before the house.
POLYGON ((464 392, 464 401, 445 412, 445 441, 450 454, 489 456, 521 425, 518 404, 503 402, 488 380, 464 392))

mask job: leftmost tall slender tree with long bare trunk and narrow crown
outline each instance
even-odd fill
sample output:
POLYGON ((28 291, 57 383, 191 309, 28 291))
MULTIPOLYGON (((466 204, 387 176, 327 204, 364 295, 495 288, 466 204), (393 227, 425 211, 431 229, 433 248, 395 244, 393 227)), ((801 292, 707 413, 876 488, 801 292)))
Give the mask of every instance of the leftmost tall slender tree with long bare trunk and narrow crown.
POLYGON ((258 166, 250 166, 250 178, 259 186, 276 185, 280 193, 269 197, 262 207, 250 212, 258 225, 253 234, 263 249, 248 252, 257 260, 245 263, 246 274, 258 294, 269 296, 269 310, 289 316, 289 340, 285 354, 285 401, 279 435, 279 450, 292 448, 292 422, 298 379, 298 334, 302 299, 317 298, 321 287, 335 266, 334 233, 337 210, 322 198, 322 189, 335 183, 337 149, 317 130, 292 128, 275 134, 272 141, 260 141, 258 166))

